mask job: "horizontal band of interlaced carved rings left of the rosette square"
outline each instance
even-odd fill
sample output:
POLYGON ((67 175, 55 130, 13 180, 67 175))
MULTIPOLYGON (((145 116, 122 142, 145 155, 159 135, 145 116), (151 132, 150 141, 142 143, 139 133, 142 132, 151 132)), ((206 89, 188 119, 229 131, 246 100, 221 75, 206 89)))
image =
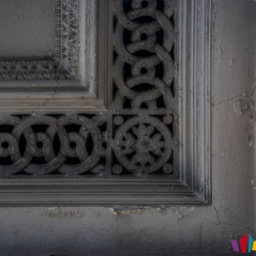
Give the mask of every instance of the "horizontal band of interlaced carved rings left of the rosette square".
POLYGON ((89 170, 91 173, 104 173, 105 165, 100 163, 100 159, 105 157, 102 146, 105 139, 100 129, 103 124, 105 118, 101 115, 92 118, 79 115, 1 118, 0 159, 1 163, 9 160, 8 164, 0 165, 1 175, 13 175, 20 170, 37 176, 56 170, 64 175, 78 175, 89 170), (40 126, 45 130, 35 132, 35 127, 40 126), (5 127, 11 127, 12 131, 2 132, 5 127), (54 143, 59 145, 58 148, 53 148, 54 143), (44 162, 33 163, 39 158, 44 162), (67 159, 75 159, 79 163, 70 165, 67 159))

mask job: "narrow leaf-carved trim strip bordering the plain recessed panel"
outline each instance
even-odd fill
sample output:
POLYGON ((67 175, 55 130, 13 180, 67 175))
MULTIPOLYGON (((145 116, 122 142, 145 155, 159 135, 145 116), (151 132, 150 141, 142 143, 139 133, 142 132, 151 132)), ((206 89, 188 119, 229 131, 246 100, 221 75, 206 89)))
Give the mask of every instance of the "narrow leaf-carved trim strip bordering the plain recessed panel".
POLYGON ((78 55, 78 0, 56 0, 55 56, 1 59, 0 80, 75 79, 78 55))

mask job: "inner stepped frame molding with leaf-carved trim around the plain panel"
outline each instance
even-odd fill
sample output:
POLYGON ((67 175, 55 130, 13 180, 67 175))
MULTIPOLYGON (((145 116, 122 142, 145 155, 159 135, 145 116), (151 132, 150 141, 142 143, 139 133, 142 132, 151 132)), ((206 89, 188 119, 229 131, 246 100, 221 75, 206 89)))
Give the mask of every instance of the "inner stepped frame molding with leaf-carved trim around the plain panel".
POLYGON ((104 67, 98 58, 104 3, 55 1, 56 53, 52 58, 0 56, 0 109, 105 109, 104 67))

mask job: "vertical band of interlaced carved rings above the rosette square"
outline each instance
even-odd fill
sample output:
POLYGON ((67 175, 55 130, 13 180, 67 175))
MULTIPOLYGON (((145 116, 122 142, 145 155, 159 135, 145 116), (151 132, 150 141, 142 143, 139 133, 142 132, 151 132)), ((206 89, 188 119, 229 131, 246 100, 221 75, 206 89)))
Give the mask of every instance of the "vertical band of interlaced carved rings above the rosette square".
POLYGON ((177 66, 171 52, 176 30, 171 22, 170 0, 114 1, 116 86, 113 108, 123 108, 125 99, 132 109, 156 110, 163 97, 165 108, 175 108, 177 66), (164 4, 164 8, 160 7, 164 4))

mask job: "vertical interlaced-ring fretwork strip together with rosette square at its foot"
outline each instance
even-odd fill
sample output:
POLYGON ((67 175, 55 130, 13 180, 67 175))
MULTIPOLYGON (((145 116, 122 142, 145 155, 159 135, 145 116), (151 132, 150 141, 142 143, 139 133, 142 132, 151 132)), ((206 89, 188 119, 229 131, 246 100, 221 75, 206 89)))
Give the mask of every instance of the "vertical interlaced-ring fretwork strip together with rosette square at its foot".
POLYGON ((178 106, 176 9, 172 2, 113 1, 112 108, 120 114, 143 111, 140 116, 114 118, 114 174, 173 174, 178 106), (160 112, 165 114, 159 116, 160 112))

